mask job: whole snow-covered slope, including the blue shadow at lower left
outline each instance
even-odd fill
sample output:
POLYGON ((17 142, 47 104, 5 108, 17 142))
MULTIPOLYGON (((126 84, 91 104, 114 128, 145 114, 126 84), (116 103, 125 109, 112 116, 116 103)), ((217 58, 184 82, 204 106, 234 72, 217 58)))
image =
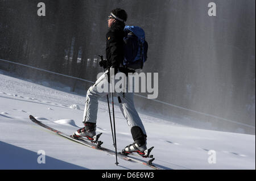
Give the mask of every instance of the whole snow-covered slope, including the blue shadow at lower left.
MULTIPOLYGON (((0 73, 0 169, 151 169, 88 148, 32 123, 42 123, 72 134, 82 127, 85 97, 30 80, 0 73), (39 150, 46 163, 38 163, 39 150)), ((86 91, 86 90, 85 90, 86 91)), ((255 169, 255 135, 196 129, 139 112, 147 131, 147 146, 162 169, 255 169), (216 163, 209 163, 210 150, 216 163)), ((117 147, 121 151, 133 139, 126 120, 115 106, 117 147)), ((108 106, 99 101, 97 133, 102 146, 114 150, 108 106)), ((142 158, 143 159, 143 158, 142 158)))

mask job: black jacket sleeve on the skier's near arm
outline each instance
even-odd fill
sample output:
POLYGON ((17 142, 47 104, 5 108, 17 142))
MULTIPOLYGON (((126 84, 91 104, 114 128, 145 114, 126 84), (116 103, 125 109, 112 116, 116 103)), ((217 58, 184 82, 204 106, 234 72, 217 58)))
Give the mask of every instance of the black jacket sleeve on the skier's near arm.
POLYGON ((122 45, 118 41, 118 37, 113 32, 108 32, 106 36, 106 41, 108 41, 109 48, 110 48, 110 62, 112 64, 112 67, 115 69, 119 68, 119 64, 122 61, 122 45))

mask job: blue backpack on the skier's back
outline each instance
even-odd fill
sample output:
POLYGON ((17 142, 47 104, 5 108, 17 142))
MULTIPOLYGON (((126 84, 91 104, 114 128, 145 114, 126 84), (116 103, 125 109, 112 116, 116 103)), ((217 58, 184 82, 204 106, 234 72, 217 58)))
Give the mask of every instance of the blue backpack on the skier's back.
POLYGON ((125 26, 123 66, 130 69, 142 69, 147 60, 148 44, 145 40, 145 33, 137 26, 125 26))

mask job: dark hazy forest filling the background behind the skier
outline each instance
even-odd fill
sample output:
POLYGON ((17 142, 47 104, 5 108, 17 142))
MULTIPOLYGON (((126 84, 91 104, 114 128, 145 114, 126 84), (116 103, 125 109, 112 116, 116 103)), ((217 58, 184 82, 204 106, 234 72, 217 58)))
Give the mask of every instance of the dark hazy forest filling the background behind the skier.
MULTIPOLYGON (((146 32, 143 71, 159 73, 157 100, 177 106, 137 97, 141 111, 181 117, 179 123, 195 127, 207 123, 209 129, 255 134, 255 1, 214 1, 216 17, 207 14, 209 2, 0 0, 0 58, 96 81, 108 15, 121 7, 127 24, 146 32), (39 2, 46 16, 38 16, 39 2)), ((39 77, 19 66, 10 71, 39 77)), ((89 86, 82 87, 84 93, 89 86)))

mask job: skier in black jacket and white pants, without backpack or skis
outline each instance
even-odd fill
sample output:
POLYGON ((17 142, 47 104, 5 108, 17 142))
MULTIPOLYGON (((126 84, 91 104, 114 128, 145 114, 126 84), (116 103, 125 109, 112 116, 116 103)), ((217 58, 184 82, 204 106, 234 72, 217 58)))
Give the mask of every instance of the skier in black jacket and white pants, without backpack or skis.
MULTIPOLYGON (((108 16, 109 30, 106 33, 106 62, 104 62, 108 70, 106 70, 105 73, 97 79, 96 83, 88 89, 83 116, 84 128, 78 129, 73 133, 74 137, 85 136, 89 138, 89 140, 93 140, 93 137, 96 136, 98 99, 109 94, 109 92, 98 92, 97 87, 105 85, 106 81, 110 82, 111 70, 114 70, 114 74, 122 72, 125 73, 126 76, 128 73, 135 72, 122 65, 124 58, 123 37, 125 36, 123 29, 126 20, 126 11, 122 9, 114 9, 108 16)), ((115 92, 115 95, 118 96, 119 108, 130 127, 131 135, 134 140, 133 144, 126 146, 124 150, 127 152, 143 152, 147 150, 147 134, 141 118, 134 107, 133 92, 115 92)))

